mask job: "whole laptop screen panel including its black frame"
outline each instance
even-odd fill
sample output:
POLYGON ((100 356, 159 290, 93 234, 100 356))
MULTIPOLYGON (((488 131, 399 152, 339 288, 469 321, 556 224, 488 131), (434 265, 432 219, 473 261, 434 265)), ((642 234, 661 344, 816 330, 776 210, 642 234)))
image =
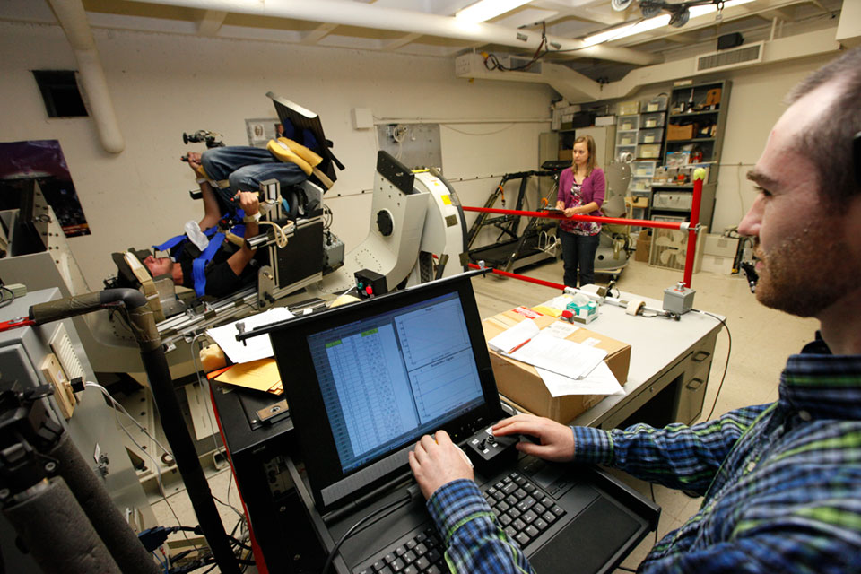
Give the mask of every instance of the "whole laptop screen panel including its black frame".
POLYGON ((424 434, 501 417, 470 277, 287 321, 270 332, 320 509, 408 473, 424 434))

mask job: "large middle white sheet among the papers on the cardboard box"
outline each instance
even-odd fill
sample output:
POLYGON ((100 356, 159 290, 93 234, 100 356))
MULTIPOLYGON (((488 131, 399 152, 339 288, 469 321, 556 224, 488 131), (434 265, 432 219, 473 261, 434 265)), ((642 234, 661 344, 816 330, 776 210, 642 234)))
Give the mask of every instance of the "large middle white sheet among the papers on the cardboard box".
POLYGON ((607 352, 542 331, 508 356, 566 377, 584 378, 604 362, 607 352))

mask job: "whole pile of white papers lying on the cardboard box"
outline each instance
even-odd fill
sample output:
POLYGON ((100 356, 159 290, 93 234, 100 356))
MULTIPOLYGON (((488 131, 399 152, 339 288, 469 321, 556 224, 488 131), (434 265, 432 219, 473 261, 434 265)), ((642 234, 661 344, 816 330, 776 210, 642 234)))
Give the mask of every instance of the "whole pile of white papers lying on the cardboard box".
POLYGON ((540 330, 535 321, 526 319, 493 337, 488 346, 534 366, 552 396, 623 393, 604 362, 606 351, 564 338, 577 328, 555 323, 540 330))

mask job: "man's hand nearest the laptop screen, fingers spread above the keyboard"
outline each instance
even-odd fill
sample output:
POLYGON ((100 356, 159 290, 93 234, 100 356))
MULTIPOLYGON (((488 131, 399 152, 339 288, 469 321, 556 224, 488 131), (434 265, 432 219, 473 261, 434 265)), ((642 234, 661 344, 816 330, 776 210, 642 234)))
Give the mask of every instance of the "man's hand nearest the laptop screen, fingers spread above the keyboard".
POLYGON ((466 462, 464 451, 448 437, 446 431, 437 431, 435 438, 424 435, 410 452, 410 468, 422 489, 425 499, 443 484, 458 478, 473 480, 473 468, 466 462))

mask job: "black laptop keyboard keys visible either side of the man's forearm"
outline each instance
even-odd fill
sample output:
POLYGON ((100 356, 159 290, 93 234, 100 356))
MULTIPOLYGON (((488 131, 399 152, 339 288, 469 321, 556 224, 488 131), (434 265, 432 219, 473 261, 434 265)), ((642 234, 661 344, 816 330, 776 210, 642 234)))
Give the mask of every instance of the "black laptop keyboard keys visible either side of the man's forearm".
MULTIPOLYGON (((500 525, 521 548, 565 515, 556 500, 519 473, 483 489, 500 525)), ((396 548, 381 552, 357 574, 442 574, 448 572, 445 548, 433 526, 396 548)))

